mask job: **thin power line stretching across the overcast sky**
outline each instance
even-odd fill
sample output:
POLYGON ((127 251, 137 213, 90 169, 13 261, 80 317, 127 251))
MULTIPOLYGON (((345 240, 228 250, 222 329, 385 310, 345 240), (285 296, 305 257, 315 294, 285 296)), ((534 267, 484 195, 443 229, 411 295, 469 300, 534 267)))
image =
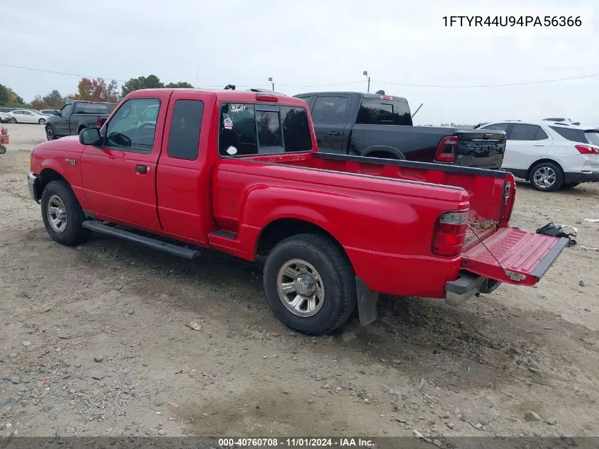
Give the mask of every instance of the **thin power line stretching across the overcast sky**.
MULTIPOLYGON (((45 70, 45 69, 39 69, 39 68, 34 68, 34 67, 23 67, 21 65, 5 64, 4 62, 0 62, 0 66, 12 67, 15 69, 22 69, 22 70, 31 70, 33 72, 62 74, 62 75, 69 76, 69 77, 95 78, 95 77, 90 77, 89 75, 82 75, 82 74, 68 73, 68 72, 57 72, 55 70, 45 70)), ((412 83, 393 82, 393 81, 376 81, 376 82, 379 82, 381 84, 393 84, 396 86, 408 86, 408 87, 440 87, 440 88, 444 88, 444 89, 471 89, 471 88, 476 88, 476 87, 508 87, 508 86, 524 86, 526 84, 546 84, 546 83, 552 83, 552 82, 570 81, 573 79, 588 79, 588 78, 593 78, 593 77, 599 77, 599 73, 581 75, 579 77, 542 79, 542 80, 537 80, 537 81, 512 82, 512 83, 502 83, 502 84, 474 84, 474 85, 469 85, 469 86, 456 86, 456 85, 447 85, 447 84, 412 84, 412 83)), ((116 79, 116 78, 111 78, 111 77, 103 77, 103 78, 104 79, 114 79, 115 81, 118 81, 121 83, 127 82, 125 79, 116 79)), ((332 84, 284 84, 284 83, 280 83, 279 85, 284 86, 284 87, 330 87, 330 86, 347 86, 349 84, 359 84, 359 83, 363 83, 363 82, 364 82, 363 79, 359 79, 357 81, 340 82, 340 83, 332 83, 332 84)), ((258 86, 266 87, 267 84, 247 84, 247 85, 238 85, 238 86, 239 87, 258 87, 258 86)), ((221 87, 221 84, 212 84, 212 85, 203 84, 203 87, 221 87)))

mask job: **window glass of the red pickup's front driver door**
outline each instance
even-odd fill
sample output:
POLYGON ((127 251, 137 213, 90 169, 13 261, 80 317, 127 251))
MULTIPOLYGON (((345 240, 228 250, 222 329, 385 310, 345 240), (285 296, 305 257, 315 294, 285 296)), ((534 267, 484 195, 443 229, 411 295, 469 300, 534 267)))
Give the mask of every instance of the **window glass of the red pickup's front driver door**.
POLYGON ((157 115, 150 121, 142 120, 148 107, 159 108, 156 98, 135 98, 125 101, 106 126, 106 146, 125 151, 151 153, 154 147, 157 115))

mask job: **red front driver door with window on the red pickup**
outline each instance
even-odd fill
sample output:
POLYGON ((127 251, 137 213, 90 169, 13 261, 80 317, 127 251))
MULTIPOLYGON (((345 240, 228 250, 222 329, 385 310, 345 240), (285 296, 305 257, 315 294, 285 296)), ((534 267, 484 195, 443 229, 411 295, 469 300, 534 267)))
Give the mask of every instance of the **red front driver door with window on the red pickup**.
POLYGON ((170 92, 131 98, 101 128, 99 146, 86 145, 81 172, 96 218, 147 231, 161 229, 156 202, 156 165, 170 92), (144 114, 150 107, 157 113, 144 114))

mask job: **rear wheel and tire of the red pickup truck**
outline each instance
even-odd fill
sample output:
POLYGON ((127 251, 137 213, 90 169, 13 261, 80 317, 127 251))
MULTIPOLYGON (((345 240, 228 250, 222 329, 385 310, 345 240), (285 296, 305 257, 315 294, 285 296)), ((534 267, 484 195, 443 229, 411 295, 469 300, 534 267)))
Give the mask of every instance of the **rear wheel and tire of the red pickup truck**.
POLYGON ((316 234, 293 235, 279 242, 264 264, 263 282, 276 317, 286 326, 309 335, 335 330, 357 305, 354 270, 349 260, 329 238, 316 234), (289 293, 279 289, 284 284, 289 293), (300 292, 306 294, 301 296, 300 292), (301 299, 297 302, 293 298, 301 299))

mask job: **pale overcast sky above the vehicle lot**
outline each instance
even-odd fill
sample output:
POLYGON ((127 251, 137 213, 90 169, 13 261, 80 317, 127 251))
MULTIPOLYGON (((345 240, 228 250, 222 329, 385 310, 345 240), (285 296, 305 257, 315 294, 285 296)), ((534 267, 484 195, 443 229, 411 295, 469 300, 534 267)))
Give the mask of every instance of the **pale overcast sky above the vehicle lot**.
MULTIPOLYGON (((558 29, 493 35, 445 28, 443 16, 513 0, 40 0, 2 1, 0 62, 84 74, 119 83, 156 74, 162 81, 268 86, 286 94, 318 90, 405 96, 416 124, 478 123, 565 116, 599 126, 599 1, 527 0, 539 16, 595 7, 594 33, 558 29), (424 4, 425 6, 422 6, 424 4), (552 33, 553 35, 547 35, 552 33), (350 83, 334 86, 337 83, 350 83), (403 83, 388 84, 385 82, 403 83)), ((496 33, 497 34, 497 33, 496 33)), ((75 92, 79 79, 0 66, 0 84, 30 101, 51 89, 75 92)))

